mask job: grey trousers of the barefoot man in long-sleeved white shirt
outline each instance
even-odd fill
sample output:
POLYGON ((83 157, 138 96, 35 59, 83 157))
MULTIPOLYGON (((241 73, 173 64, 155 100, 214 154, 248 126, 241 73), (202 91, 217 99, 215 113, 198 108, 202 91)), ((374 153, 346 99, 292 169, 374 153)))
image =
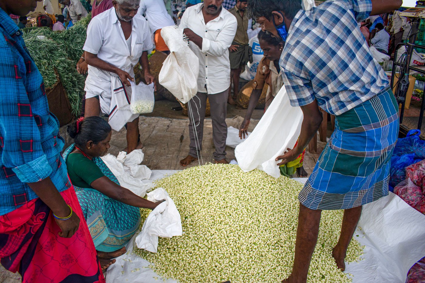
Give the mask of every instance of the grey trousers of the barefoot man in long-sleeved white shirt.
POLYGON ((204 135, 205 108, 207 107, 208 98, 211 107, 212 136, 215 146, 215 152, 213 154, 214 159, 216 161, 220 161, 226 158, 226 114, 228 96, 229 90, 215 94, 198 92, 196 93, 196 96, 190 99, 187 107, 189 114, 190 156, 198 158, 198 156, 201 155, 200 151, 202 150, 202 137, 204 135), (195 125, 193 125, 193 122, 195 125), (194 127, 196 130, 196 139, 194 127))

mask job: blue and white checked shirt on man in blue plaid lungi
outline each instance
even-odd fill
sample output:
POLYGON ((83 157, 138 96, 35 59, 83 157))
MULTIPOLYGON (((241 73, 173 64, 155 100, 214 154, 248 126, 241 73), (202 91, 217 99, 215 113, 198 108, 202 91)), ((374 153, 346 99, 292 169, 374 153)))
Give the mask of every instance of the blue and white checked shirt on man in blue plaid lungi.
POLYGON ((280 57, 292 106, 317 99, 323 110, 340 115, 388 85, 357 25, 371 9, 371 0, 328 0, 298 11, 280 57))

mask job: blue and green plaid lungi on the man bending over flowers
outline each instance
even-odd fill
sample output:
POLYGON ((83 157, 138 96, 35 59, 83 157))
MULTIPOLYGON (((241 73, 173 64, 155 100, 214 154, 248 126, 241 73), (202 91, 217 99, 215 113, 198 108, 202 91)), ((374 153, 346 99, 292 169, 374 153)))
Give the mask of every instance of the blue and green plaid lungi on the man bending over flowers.
POLYGON ((387 87, 335 116, 335 130, 298 195, 309 209, 349 209, 388 195, 398 105, 387 87))

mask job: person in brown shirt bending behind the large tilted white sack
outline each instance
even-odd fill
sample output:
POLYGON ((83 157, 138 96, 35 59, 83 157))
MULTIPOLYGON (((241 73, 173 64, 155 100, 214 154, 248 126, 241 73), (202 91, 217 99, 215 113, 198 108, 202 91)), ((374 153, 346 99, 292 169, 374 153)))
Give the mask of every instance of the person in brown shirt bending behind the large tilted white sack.
MULTIPOLYGON (((264 57, 258 64, 257 74, 252 85, 253 90, 249 97, 248 109, 246 109, 244 121, 239 129, 239 137, 241 139, 248 136, 248 126, 251 121, 252 112, 258 104, 264 85, 269 85, 266 93, 266 107, 264 112, 267 111, 267 108, 269 108, 273 99, 283 86, 279 59, 283 51, 284 42, 280 38, 272 37, 271 34, 267 34, 265 31, 259 31, 258 42, 263 50, 264 57)), ((291 123, 291 121, 288 121, 288 123, 291 123)), ((303 167, 305 153, 306 150, 304 149, 303 153, 290 164, 280 165, 280 173, 290 178, 296 172, 299 178, 306 178, 308 174, 303 167)))

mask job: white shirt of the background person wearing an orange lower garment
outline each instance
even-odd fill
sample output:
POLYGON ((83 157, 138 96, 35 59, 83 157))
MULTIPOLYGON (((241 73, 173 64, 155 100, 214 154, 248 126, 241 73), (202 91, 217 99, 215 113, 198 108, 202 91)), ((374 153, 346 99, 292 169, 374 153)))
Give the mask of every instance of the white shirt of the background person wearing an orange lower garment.
POLYGON ((163 1, 142 0, 138 13, 146 14, 147 23, 152 33, 164 26, 174 25, 173 18, 168 14, 163 1))

